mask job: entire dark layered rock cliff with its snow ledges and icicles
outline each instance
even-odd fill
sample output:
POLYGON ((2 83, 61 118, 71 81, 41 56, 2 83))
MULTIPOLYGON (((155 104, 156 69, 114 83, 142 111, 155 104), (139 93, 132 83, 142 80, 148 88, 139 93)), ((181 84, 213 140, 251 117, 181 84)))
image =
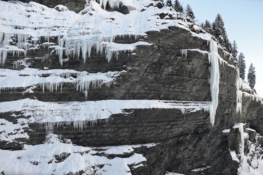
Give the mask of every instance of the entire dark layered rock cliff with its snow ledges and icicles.
POLYGON ((263 101, 188 16, 150 0, 0 5, 4 174, 260 173, 263 101))

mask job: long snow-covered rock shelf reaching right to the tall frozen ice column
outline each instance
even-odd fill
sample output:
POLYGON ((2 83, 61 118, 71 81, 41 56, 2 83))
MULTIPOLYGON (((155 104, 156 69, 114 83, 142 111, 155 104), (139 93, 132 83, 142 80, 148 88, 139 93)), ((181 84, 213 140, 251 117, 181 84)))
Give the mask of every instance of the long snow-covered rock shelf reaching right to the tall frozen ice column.
MULTIPOLYGON (((70 125, 83 129, 85 121, 107 119, 112 114, 125 113, 122 109, 179 109, 185 112, 196 112, 208 106, 208 102, 160 101, 160 100, 102 100, 85 102, 41 102, 33 99, 22 99, 0 103, 0 113, 22 111, 30 118, 28 123, 48 123, 53 125, 70 125)), ((4 126, 5 127, 5 126, 4 126)), ((3 129, 4 129, 3 127, 3 129)))

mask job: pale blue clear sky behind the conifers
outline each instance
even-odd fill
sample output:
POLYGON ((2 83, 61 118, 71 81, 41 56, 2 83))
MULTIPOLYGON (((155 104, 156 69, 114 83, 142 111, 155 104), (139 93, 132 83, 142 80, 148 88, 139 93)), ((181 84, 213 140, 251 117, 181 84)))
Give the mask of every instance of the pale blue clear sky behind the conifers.
POLYGON ((180 0, 189 4, 199 22, 215 20, 221 14, 228 38, 237 43, 246 60, 246 73, 251 63, 256 71, 256 92, 263 97, 263 0, 180 0))

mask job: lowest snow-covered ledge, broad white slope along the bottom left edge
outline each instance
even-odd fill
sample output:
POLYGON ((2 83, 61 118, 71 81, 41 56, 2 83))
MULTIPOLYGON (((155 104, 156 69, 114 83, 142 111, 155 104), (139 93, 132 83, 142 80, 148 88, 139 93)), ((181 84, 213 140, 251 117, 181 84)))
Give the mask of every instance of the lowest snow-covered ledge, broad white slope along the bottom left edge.
MULTIPOLYGON (((142 154, 131 153, 126 158, 95 155, 98 148, 74 146, 63 143, 56 134, 49 134, 47 141, 39 145, 24 145, 23 150, 8 151, 0 149, 1 171, 5 174, 130 174, 128 165, 133 168, 144 164, 146 158, 142 154), (69 166, 70 165, 70 166, 69 166)), ((147 146, 148 144, 146 144, 147 146)), ((155 146, 156 144, 149 144, 155 146)), ((133 147, 145 145, 118 146, 120 150, 132 150, 133 147)), ((149 146, 149 147, 151 147, 149 146)), ((116 152, 117 147, 108 147, 105 153, 116 152)))

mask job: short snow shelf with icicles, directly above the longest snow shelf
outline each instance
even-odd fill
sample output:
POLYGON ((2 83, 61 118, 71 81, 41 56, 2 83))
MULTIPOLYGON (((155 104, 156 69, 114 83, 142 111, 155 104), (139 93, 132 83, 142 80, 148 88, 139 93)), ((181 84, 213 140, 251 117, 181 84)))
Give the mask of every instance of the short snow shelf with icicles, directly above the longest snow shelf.
MULTIPOLYGON (((78 89, 82 91, 87 98, 90 86, 94 89, 102 86, 109 87, 116 77, 120 76, 123 72, 127 71, 88 73, 86 71, 79 72, 69 69, 41 70, 24 68, 20 71, 0 69, 0 90, 39 85, 42 87, 44 93, 45 88, 50 92, 59 89, 62 91, 63 83, 72 83, 76 84, 77 91, 78 89), (73 78, 73 75, 77 78, 73 78)), ((30 92, 32 92, 32 88, 30 92)))

